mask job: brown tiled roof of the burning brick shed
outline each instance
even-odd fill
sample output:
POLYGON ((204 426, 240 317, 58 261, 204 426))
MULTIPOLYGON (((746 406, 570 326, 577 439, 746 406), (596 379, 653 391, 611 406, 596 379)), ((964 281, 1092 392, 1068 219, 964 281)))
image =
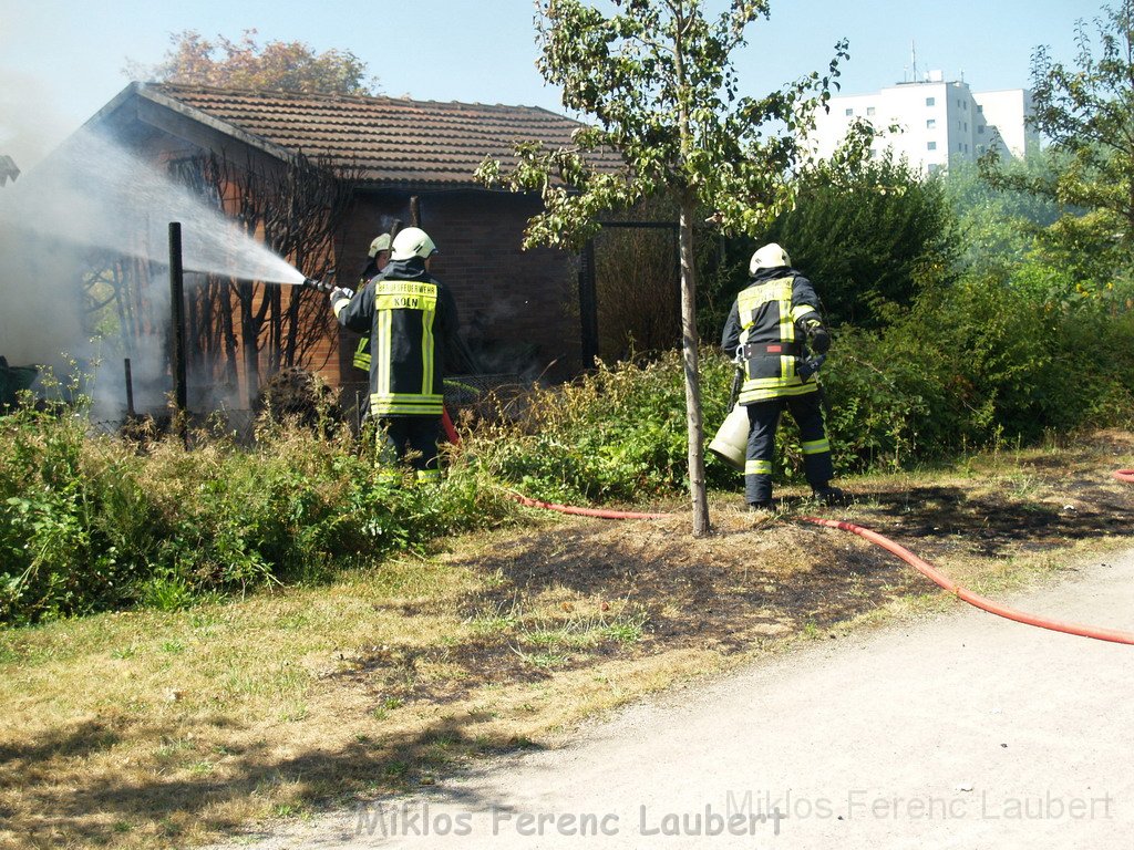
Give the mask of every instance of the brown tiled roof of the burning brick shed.
POLYGON ((517 142, 533 139, 568 146, 581 126, 536 107, 169 84, 146 84, 137 91, 270 147, 354 165, 374 185, 480 186, 473 172, 485 155, 507 162, 517 142))

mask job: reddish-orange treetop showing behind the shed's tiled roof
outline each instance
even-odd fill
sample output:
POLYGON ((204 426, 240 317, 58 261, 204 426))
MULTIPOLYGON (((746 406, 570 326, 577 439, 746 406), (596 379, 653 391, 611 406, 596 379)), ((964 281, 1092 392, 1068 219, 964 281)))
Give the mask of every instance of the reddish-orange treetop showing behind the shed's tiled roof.
POLYGON ((170 35, 172 48, 161 63, 147 68, 127 62, 134 79, 161 83, 254 88, 322 94, 371 95, 378 80, 367 77, 366 63, 349 50, 315 53, 303 42, 256 43, 255 29, 245 29, 239 42, 222 35, 202 39, 186 29, 170 35))

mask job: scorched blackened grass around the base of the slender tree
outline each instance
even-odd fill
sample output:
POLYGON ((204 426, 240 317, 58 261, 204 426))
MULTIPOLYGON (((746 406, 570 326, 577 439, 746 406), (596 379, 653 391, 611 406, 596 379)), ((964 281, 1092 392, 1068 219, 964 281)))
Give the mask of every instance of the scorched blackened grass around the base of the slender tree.
MULTIPOLYGON (((939 592, 870 543, 801 521, 809 513, 872 528, 946 573, 973 560, 1000 562, 1094 538, 1131 538, 1134 487, 1110 473, 1115 457, 1132 451, 1129 441, 1103 434, 1058 454, 1017 452, 955 481, 937 475, 924 485, 852 485, 856 501, 840 509, 816 509, 788 495, 780 513, 754 518, 739 511, 737 500, 714 508, 713 534, 701 539, 689 536, 680 509, 661 520, 562 517, 519 530, 486 552, 450 559, 492 577, 459 606, 468 620, 497 617, 498 627, 445 649, 459 677, 418 683, 403 677, 399 694, 445 703, 484 681, 535 682, 610 656, 683 648, 735 655, 801 632, 826 632, 898 597, 939 592), (536 606, 532 601, 540 597, 550 598, 536 606), (517 600, 525 601, 524 610, 515 610, 517 600), (548 666, 533 664, 524 652, 532 630, 583 619, 601 631, 627 612, 641 624, 632 640, 603 637, 569 646, 548 666)), ((357 673, 384 663, 371 658, 357 673)))

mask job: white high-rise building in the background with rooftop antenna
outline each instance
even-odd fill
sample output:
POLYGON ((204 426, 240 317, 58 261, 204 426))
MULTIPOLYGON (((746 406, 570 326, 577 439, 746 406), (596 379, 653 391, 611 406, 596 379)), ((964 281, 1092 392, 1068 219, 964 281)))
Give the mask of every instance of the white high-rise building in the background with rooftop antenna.
POLYGON ((858 119, 883 134, 875 139, 875 150, 888 147, 926 173, 947 168, 950 159, 976 160, 995 145, 1022 158, 1039 143, 1027 125, 1033 110, 1026 88, 973 92, 967 83, 946 83, 940 71, 874 94, 831 97, 829 107, 829 112, 815 114, 812 138, 815 153, 824 158, 858 119), (898 130, 889 131, 891 125, 898 130))

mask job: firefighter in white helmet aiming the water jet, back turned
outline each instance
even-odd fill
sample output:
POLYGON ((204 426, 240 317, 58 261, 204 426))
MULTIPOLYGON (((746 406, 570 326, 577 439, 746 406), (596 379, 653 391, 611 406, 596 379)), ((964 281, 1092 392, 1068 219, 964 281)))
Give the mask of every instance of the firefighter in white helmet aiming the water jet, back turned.
POLYGON ((383 430, 390 459, 408 458, 420 482, 441 477, 445 352, 457 333, 452 294, 430 274, 435 253, 424 230, 405 228, 381 274, 356 294, 330 295, 339 324, 370 334, 370 414, 383 430))

